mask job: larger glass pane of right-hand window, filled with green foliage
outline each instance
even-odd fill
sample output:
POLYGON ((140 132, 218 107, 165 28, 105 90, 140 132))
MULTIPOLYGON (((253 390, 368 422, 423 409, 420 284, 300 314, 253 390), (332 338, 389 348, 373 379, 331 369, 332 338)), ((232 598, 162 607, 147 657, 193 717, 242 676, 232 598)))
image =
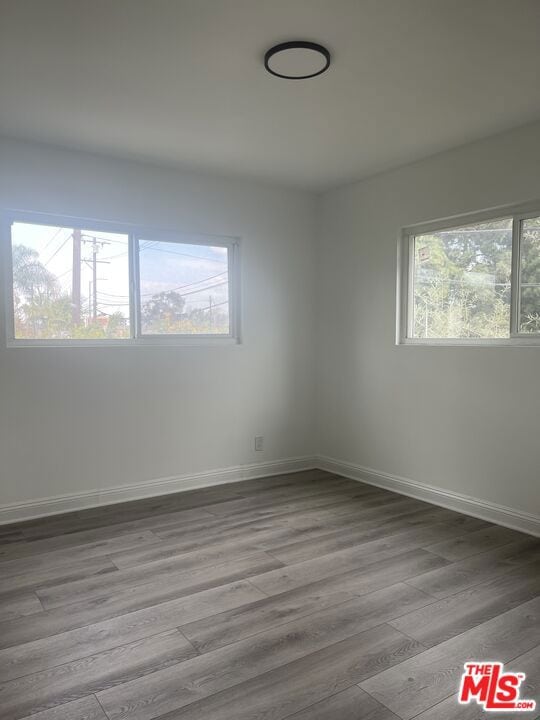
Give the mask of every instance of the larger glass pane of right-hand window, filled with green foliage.
POLYGON ((511 265, 511 219, 417 235, 413 337, 509 337, 511 265))

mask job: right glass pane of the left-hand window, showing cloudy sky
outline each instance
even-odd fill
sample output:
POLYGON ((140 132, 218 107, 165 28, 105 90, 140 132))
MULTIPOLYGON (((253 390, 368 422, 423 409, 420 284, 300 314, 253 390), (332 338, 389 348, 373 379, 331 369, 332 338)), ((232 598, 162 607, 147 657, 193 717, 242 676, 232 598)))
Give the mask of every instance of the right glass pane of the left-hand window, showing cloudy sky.
POLYGON ((141 333, 228 335, 225 247, 139 241, 141 333))

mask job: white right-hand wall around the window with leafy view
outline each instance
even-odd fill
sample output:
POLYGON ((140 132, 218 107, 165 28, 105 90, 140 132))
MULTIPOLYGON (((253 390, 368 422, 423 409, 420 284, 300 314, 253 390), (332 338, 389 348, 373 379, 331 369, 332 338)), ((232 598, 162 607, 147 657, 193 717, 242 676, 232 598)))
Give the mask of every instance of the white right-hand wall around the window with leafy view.
POLYGON ((394 344, 400 228, 534 199, 540 124, 324 196, 321 454, 540 512, 540 347, 394 344))

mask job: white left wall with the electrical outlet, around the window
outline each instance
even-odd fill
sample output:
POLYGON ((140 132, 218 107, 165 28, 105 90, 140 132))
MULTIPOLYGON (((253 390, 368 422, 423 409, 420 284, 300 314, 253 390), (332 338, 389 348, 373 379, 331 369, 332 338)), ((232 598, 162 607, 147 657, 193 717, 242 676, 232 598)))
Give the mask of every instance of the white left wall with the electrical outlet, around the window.
POLYGON ((0 327, 0 505, 311 455, 314 202, 0 142, 0 208, 240 236, 244 340, 6 349, 0 327))

